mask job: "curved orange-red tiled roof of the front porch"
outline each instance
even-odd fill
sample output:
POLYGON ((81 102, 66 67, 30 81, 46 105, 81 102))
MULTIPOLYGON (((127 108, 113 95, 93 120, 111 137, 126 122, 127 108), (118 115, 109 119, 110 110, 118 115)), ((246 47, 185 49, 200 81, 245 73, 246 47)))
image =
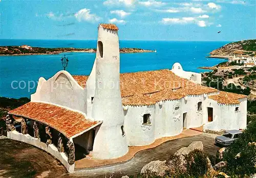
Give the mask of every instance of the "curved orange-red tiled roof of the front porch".
POLYGON ((46 124, 58 130, 67 138, 100 122, 86 119, 83 114, 64 107, 39 102, 29 102, 11 110, 8 114, 22 116, 46 124))

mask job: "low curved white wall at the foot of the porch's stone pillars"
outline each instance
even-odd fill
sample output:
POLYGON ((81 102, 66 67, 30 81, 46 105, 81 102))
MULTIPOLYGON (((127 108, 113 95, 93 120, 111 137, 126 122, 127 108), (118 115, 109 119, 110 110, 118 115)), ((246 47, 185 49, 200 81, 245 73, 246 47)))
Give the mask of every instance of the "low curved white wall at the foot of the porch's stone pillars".
POLYGON ((53 155, 54 158, 59 160, 63 164, 63 166, 66 167, 66 169, 69 172, 73 172, 75 169, 75 164, 70 165, 68 163, 67 155, 64 152, 58 152, 58 149, 53 144, 50 144, 47 146, 46 143, 40 142, 40 140, 35 139, 34 137, 31 137, 28 134, 23 135, 22 133, 19 133, 16 130, 8 131, 7 138, 33 145, 37 148, 40 148, 40 149, 50 153, 51 155, 53 155))

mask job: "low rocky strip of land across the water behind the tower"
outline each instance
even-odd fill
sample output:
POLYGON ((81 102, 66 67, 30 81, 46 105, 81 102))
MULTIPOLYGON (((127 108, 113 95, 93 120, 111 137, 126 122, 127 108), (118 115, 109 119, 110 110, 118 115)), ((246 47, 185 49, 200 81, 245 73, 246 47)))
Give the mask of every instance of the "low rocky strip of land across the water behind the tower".
MULTIPOLYGON (((155 51, 139 48, 121 48, 120 53, 152 53, 155 51)), ((96 53, 96 49, 39 48, 23 46, 0 46, 0 56, 54 55, 59 53, 96 53)))

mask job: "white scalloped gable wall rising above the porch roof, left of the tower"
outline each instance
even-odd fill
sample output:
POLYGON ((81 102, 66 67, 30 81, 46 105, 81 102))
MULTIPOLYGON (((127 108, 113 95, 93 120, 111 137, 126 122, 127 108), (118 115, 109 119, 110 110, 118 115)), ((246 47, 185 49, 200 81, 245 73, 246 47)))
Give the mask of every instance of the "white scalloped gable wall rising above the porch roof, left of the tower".
POLYGON ((40 77, 31 101, 44 101, 87 113, 86 91, 67 71, 59 71, 49 80, 40 77))

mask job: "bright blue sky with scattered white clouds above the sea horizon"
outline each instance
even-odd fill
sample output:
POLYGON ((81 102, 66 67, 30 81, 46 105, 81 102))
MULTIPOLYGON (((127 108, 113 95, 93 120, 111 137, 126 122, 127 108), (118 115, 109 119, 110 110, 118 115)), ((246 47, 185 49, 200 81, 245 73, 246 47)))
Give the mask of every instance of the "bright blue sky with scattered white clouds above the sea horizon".
POLYGON ((116 24, 121 40, 255 39, 255 2, 0 0, 0 39, 97 39, 100 23, 116 24))

